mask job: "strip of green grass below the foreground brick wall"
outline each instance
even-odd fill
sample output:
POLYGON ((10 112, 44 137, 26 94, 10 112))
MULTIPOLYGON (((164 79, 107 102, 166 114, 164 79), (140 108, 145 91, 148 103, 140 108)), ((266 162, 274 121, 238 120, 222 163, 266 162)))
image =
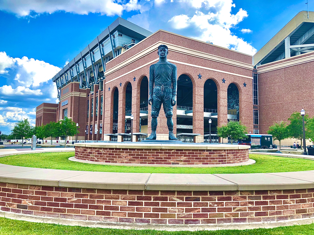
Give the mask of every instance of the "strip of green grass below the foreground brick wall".
MULTIPOLYGON (((261 225, 263 226, 263 225, 261 225)), ((57 224, 34 223, 0 218, 0 235, 314 235, 314 224, 295 225, 271 229, 250 230, 219 230, 197 232, 166 232, 156 230, 125 230, 109 228, 89 228, 79 226, 64 226, 57 224)))

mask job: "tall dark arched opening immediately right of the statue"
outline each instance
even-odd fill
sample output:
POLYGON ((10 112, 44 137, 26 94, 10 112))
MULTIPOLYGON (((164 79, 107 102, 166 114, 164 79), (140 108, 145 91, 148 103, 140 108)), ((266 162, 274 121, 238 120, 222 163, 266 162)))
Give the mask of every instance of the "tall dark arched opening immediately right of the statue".
MULTIPOLYGON (((193 83, 186 74, 180 75, 177 82, 176 122, 177 134, 193 133, 193 83)), ((177 138, 184 142, 193 142, 193 136, 177 135, 177 138)))

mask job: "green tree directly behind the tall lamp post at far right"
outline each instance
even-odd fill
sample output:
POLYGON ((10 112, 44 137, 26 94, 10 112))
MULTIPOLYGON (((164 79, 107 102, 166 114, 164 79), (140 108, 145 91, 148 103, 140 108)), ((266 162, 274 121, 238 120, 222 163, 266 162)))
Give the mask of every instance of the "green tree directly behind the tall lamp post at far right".
MULTIPOLYGON (((309 115, 304 115, 304 122, 309 119, 309 115)), ((300 115, 300 112, 294 112, 291 114, 290 118, 288 118, 290 124, 287 126, 287 130, 289 133, 289 137, 299 139, 301 142, 301 149, 302 149, 302 140, 303 140, 303 119, 300 115)), ((307 136, 307 131, 305 132, 305 136, 307 136)))

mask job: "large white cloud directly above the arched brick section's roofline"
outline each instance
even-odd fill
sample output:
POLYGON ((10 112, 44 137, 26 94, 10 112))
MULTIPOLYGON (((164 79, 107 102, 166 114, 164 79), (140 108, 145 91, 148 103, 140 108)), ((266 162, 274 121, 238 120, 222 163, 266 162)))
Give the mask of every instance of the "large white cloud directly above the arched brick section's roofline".
MULTIPOLYGON (((149 6, 145 1, 140 3, 149 6)), ((232 0, 155 0, 149 7, 129 20, 153 32, 158 29, 174 31, 249 55, 257 51, 233 32, 248 13, 242 8, 233 12, 236 5, 232 0)))

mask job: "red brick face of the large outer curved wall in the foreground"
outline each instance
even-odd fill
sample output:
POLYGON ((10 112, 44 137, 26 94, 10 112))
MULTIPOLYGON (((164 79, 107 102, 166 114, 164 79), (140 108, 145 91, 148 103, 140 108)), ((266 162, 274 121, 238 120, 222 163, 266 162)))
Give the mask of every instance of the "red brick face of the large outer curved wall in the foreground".
POLYGON ((77 220, 215 224, 313 217, 314 189, 148 191, 0 183, 0 210, 77 220))

